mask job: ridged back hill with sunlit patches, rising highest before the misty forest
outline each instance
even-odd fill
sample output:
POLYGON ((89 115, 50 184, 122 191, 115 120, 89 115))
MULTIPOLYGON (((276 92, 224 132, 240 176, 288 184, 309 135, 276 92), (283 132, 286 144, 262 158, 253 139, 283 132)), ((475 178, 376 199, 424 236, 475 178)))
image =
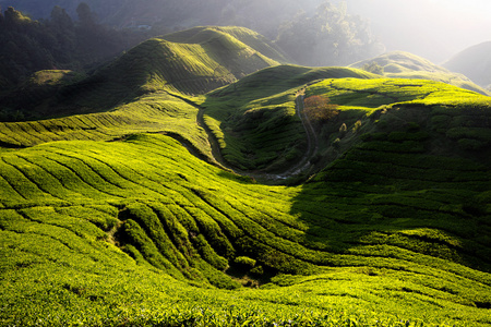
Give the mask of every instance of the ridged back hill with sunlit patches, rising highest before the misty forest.
POLYGON ((182 94, 203 94, 277 64, 227 33, 213 29, 208 37, 193 43, 170 36, 167 38, 177 41, 147 40, 99 74, 115 81, 122 77, 123 84, 142 87, 143 92, 164 87, 182 94))

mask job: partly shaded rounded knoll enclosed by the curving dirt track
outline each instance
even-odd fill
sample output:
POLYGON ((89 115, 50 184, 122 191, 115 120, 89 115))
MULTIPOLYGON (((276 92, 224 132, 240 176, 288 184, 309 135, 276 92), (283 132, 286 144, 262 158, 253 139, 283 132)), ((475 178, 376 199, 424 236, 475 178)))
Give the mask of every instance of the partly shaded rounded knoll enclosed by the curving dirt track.
POLYGON ((202 105, 204 120, 233 167, 278 171, 298 161, 306 147, 304 129, 296 112, 298 90, 316 80, 343 77, 376 75, 346 68, 265 69, 211 93, 202 105))

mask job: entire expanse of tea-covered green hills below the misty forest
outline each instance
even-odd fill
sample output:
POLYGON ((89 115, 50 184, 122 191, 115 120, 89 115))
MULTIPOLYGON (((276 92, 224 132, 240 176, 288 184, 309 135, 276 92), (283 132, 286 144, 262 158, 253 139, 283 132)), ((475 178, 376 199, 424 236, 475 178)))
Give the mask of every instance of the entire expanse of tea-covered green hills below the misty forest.
POLYGON ((19 89, 61 117, 0 124, 0 325, 489 326, 490 98, 274 51, 200 27, 19 89))

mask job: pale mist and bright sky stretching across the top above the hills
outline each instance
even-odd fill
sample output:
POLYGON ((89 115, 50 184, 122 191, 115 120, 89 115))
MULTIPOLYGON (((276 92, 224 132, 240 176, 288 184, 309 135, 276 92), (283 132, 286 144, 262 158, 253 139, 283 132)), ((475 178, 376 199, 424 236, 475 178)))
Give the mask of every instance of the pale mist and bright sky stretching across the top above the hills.
MULTIPOLYGON (((59 5, 76 22, 72 0, 0 0, 35 20, 59 5)), ((487 0, 85 0, 97 23, 122 31, 148 26, 152 37, 196 25, 259 32, 304 65, 345 65, 405 50, 435 63, 491 39, 487 0), (308 50, 308 51, 306 51, 308 50)), ((143 36, 142 36, 143 38, 143 36)), ((118 49, 120 49, 119 47, 118 49)))

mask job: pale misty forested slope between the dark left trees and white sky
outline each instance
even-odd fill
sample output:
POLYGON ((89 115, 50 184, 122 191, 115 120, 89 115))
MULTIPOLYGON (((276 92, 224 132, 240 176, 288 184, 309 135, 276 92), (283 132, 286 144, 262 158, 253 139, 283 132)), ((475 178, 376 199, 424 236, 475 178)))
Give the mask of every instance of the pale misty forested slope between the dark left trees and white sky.
MULTIPOLYGON (((95 1, 95 0, 93 0, 95 1)), ((368 21, 330 0, 146 0, 121 1, 110 24, 131 20, 159 33, 194 25, 236 25, 266 36, 298 64, 345 65, 378 56, 384 46, 368 21)))

